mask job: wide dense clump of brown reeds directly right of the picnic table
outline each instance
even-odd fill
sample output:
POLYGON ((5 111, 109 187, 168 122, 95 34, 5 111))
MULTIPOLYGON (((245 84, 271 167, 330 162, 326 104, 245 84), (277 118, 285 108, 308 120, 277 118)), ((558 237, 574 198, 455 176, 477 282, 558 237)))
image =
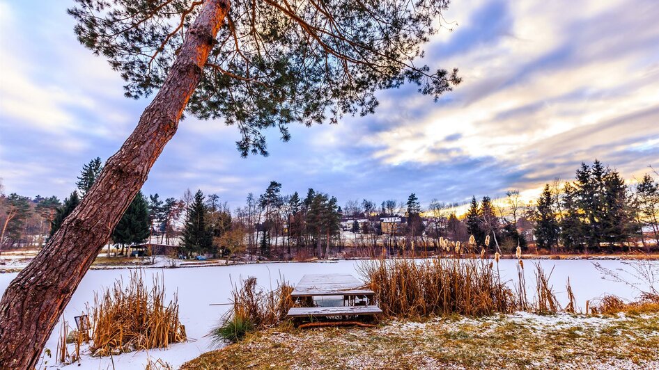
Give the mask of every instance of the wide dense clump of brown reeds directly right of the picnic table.
POLYGON ((483 316, 516 308, 513 291, 484 260, 380 259, 360 270, 387 316, 483 316))

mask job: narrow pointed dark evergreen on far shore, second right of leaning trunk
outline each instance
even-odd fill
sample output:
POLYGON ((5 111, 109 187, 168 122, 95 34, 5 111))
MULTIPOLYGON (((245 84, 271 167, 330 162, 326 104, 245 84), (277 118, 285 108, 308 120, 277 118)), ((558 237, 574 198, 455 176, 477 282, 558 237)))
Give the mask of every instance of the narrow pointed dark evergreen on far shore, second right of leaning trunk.
POLYGON ((208 231, 206 224, 204 198, 201 190, 198 190, 185 214, 181 245, 188 255, 209 252, 212 248, 212 234, 208 231))

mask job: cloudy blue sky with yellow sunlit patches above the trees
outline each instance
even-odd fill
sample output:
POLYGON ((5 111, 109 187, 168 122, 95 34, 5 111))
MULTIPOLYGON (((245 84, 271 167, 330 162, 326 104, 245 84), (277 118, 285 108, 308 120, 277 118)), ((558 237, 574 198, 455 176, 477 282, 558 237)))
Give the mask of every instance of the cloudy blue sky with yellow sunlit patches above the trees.
MULTIPOLYGON (((118 73, 79 45, 71 5, 0 0, 5 193, 64 198, 150 102, 123 97, 118 73)), ((629 179, 659 167, 659 1, 464 0, 444 19, 424 62, 458 67, 463 83, 438 102, 414 86, 381 91, 375 114, 293 126, 288 143, 268 131, 270 156, 247 159, 234 127, 187 118, 144 192, 200 188, 238 207, 275 180, 340 204, 416 193, 427 205, 511 189, 532 198, 594 159, 629 179)))

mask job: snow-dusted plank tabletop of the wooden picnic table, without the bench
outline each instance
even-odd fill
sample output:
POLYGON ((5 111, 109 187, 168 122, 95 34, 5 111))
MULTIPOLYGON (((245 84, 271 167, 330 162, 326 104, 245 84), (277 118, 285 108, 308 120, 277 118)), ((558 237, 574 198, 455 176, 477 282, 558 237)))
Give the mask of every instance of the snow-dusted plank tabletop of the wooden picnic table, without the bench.
POLYGON ((302 276, 293 297, 310 296, 373 296, 371 289, 350 274, 307 274, 302 276))

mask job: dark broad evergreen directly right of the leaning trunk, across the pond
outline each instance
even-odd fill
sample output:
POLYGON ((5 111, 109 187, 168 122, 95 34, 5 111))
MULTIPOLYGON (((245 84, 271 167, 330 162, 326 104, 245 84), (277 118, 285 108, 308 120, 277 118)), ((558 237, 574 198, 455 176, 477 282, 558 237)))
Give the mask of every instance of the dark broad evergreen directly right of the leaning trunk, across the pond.
POLYGON ((150 235, 150 222, 148 203, 144 195, 139 191, 128 208, 121 216, 121 220, 114 227, 112 240, 116 244, 131 246, 144 243, 150 235))

